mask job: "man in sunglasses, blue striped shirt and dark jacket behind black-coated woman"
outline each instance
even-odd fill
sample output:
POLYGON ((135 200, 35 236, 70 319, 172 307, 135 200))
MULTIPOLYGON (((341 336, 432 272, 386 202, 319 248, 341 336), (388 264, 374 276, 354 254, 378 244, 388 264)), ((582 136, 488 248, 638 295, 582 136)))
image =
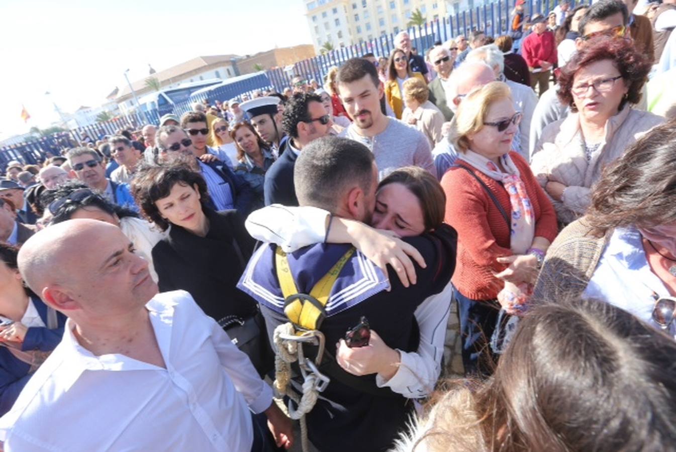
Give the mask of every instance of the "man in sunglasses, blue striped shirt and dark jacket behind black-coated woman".
POLYGON ((237 209, 249 214, 254 201, 251 186, 222 161, 202 161, 195 155, 193 142, 183 128, 163 126, 155 137, 158 162, 185 159, 204 178, 216 210, 237 209))

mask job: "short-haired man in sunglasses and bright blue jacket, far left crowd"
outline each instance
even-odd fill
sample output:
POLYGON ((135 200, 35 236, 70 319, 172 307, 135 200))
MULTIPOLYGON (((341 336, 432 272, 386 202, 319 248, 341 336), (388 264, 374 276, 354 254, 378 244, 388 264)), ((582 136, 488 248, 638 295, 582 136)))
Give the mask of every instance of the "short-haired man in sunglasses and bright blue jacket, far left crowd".
POLYGON ((96 190, 111 203, 139 211, 132 197, 129 186, 113 182, 105 177, 105 168, 101 164, 101 156, 87 147, 76 147, 66 154, 70 165, 70 174, 80 182, 96 190))

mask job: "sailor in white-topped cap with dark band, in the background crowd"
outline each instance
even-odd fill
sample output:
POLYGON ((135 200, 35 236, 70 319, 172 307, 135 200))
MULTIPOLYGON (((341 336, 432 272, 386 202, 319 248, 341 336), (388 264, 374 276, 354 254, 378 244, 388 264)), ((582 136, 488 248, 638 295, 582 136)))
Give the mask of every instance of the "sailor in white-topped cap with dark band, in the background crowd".
POLYGON ((265 96, 242 102, 239 106, 251 118, 251 125, 266 143, 272 146, 275 158, 284 151, 287 135, 282 129, 279 97, 265 96))

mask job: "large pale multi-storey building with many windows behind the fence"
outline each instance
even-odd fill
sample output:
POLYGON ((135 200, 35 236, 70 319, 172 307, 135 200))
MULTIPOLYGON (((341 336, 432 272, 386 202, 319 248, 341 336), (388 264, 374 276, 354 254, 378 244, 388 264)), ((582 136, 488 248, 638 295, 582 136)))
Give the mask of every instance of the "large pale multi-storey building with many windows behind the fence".
MULTIPOLYGON (((335 49, 370 42, 377 36, 405 30, 420 9, 428 22, 483 5, 486 0, 304 0, 312 45, 335 49)), ((488 0, 490 1, 490 0, 488 0)))

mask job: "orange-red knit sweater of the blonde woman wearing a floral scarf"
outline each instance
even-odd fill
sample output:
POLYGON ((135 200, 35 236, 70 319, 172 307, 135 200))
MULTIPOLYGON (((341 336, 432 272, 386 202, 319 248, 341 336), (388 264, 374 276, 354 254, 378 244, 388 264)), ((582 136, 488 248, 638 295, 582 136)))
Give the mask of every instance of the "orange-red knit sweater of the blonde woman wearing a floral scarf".
MULTIPOLYGON (((510 152, 510 157, 521 173, 521 180, 533 204, 535 236, 554 241, 558 228, 552 203, 523 157, 515 152, 510 152)), ((509 195, 500 183, 466 161, 458 160, 456 164, 472 168, 496 195, 504 211, 508 215, 512 213, 509 195)), ((466 170, 451 168, 443 175, 441 186, 446 193, 444 221, 458 231, 458 260, 452 282, 469 299, 495 299, 504 287, 504 281, 493 276, 493 272, 507 268, 505 264, 496 262, 496 258, 512 255, 510 228, 481 184, 466 170)))

